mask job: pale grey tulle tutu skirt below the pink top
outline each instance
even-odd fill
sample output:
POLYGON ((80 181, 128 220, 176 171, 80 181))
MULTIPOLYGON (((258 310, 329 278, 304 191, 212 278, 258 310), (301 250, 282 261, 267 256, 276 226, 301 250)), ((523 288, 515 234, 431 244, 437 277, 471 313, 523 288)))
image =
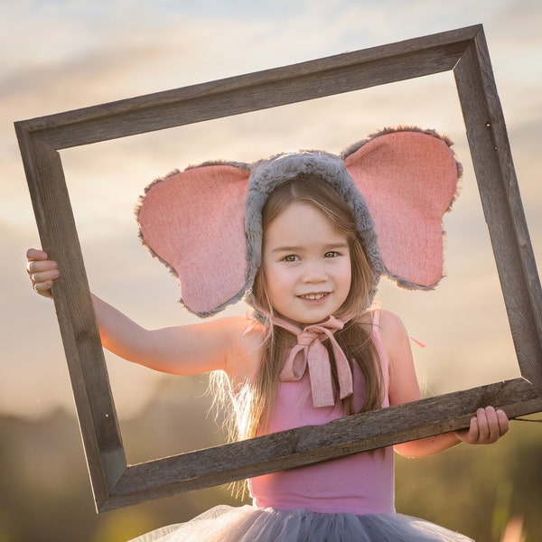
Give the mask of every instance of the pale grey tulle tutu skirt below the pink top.
POLYGON ((221 505, 131 542, 472 542, 434 523, 403 514, 322 514, 308 510, 221 505))

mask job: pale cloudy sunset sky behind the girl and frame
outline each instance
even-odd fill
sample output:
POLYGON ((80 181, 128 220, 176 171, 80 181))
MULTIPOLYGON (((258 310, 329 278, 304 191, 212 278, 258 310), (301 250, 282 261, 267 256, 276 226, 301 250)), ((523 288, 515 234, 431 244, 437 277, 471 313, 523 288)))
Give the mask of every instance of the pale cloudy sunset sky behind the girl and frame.
MULTIPOLYGON (((0 5, 0 413, 72 409, 58 323, 34 294, 26 248, 39 237, 14 122, 251 71, 483 24, 528 228, 542 254, 542 5, 537 0, 4 0, 0 5), (538 174, 537 174, 538 173, 538 174)), ((464 166, 444 222, 447 276, 434 293, 383 284, 413 342, 425 393, 519 376, 475 186, 453 75, 61 151, 92 291, 147 327, 192 322, 178 287, 140 248, 133 209, 146 184, 207 159, 252 162, 297 148, 340 152, 384 126, 449 135, 464 166)), ((244 313, 234 307, 229 313, 244 313)), ((121 416, 164 377, 107 355, 121 416)), ((169 378, 169 377, 167 377, 169 378)))

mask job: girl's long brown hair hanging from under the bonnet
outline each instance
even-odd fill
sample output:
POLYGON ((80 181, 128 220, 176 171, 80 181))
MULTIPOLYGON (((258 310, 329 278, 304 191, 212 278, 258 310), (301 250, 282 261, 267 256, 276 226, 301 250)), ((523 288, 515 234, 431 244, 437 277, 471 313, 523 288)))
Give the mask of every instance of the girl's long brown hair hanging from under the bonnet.
MULTIPOLYGON (((357 235, 356 224, 349 206, 327 182, 314 175, 302 174, 281 184, 272 192, 262 211, 262 227, 276 219, 293 202, 304 202, 321 210, 332 226, 346 236, 350 247, 351 285, 344 304, 335 314, 337 317, 354 315, 344 329, 335 333, 350 367, 357 363, 364 378, 365 397, 360 412, 373 410, 382 405, 383 378, 378 353, 371 340, 372 324, 360 322, 360 315, 369 305, 372 272, 368 259, 357 235)), ((255 302, 268 314, 273 315, 273 306, 266 295, 266 276, 260 266, 254 281, 252 295, 255 302)), ((277 326, 269 326, 266 341, 262 346, 257 378, 247 383, 238 402, 238 437, 251 438, 266 432, 266 425, 273 408, 278 376, 285 360, 286 350, 294 344, 294 336, 277 326)), ((325 343, 333 359, 329 343, 325 343)), ((334 363, 332 363, 334 369, 334 363)), ((336 372, 333 371, 335 388, 338 388, 336 372)), ((353 399, 342 400, 346 414, 355 414, 353 399)))

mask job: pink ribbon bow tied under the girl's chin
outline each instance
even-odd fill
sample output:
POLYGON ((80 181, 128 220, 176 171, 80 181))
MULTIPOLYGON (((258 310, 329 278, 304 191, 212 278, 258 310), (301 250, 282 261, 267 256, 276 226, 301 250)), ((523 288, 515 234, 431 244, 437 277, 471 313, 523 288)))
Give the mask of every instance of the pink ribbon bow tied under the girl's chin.
POLYGON ((334 332, 344 327, 344 322, 330 316, 325 322, 312 323, 303 330, 280 318, 273 317, 272 322, 297 336, 297 344, 290 350, 279 376, 283 382, 301 379, 308 366, 313 405, 334 406, 332 365, 328 350, 322 344, 322 341, 329 339, 332 343, 337 367, 339 396, 343 399, 353 393, 349 362, 339 343, 333 337, 334 332))

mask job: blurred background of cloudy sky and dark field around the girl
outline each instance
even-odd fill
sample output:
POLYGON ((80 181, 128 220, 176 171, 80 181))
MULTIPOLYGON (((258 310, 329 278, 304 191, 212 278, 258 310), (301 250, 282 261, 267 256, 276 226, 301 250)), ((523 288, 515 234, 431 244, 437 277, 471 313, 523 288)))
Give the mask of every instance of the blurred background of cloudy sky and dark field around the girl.
MULTIPOLYGON (((542 5, 536 0, 4 0, 0 5, 0 542, 117 542, 192 518, 227 487, 97 514, 53 305, 33 294, 26 248, 39 238, 13 123, 250 71, 482 23, 531 241, 542 251, 542 5)), ((341 152, 384 126, 449 135, 462 195, 445 219, 447 276, 432 293, 384 281, 425 395, 516 378, 519 369, 472 173, 452 73, 61 151, 90 288, 146 327, 193 321, 178 285, 139 245, 145 185, 207 159, 341 152)), ((228 313, 245 313, 239 305, 228 313)), ((107 354, 130 463, 220 444, 207 379, 174 378, 107 354)), ((537 416, 531 416, 536 419, 537 416)), ((542 533, 542 428, 512 422, 493 446, 397 458, 398 511, 481 542, 542 533), (516 535, 512 537, 512 532, 516 535)))

